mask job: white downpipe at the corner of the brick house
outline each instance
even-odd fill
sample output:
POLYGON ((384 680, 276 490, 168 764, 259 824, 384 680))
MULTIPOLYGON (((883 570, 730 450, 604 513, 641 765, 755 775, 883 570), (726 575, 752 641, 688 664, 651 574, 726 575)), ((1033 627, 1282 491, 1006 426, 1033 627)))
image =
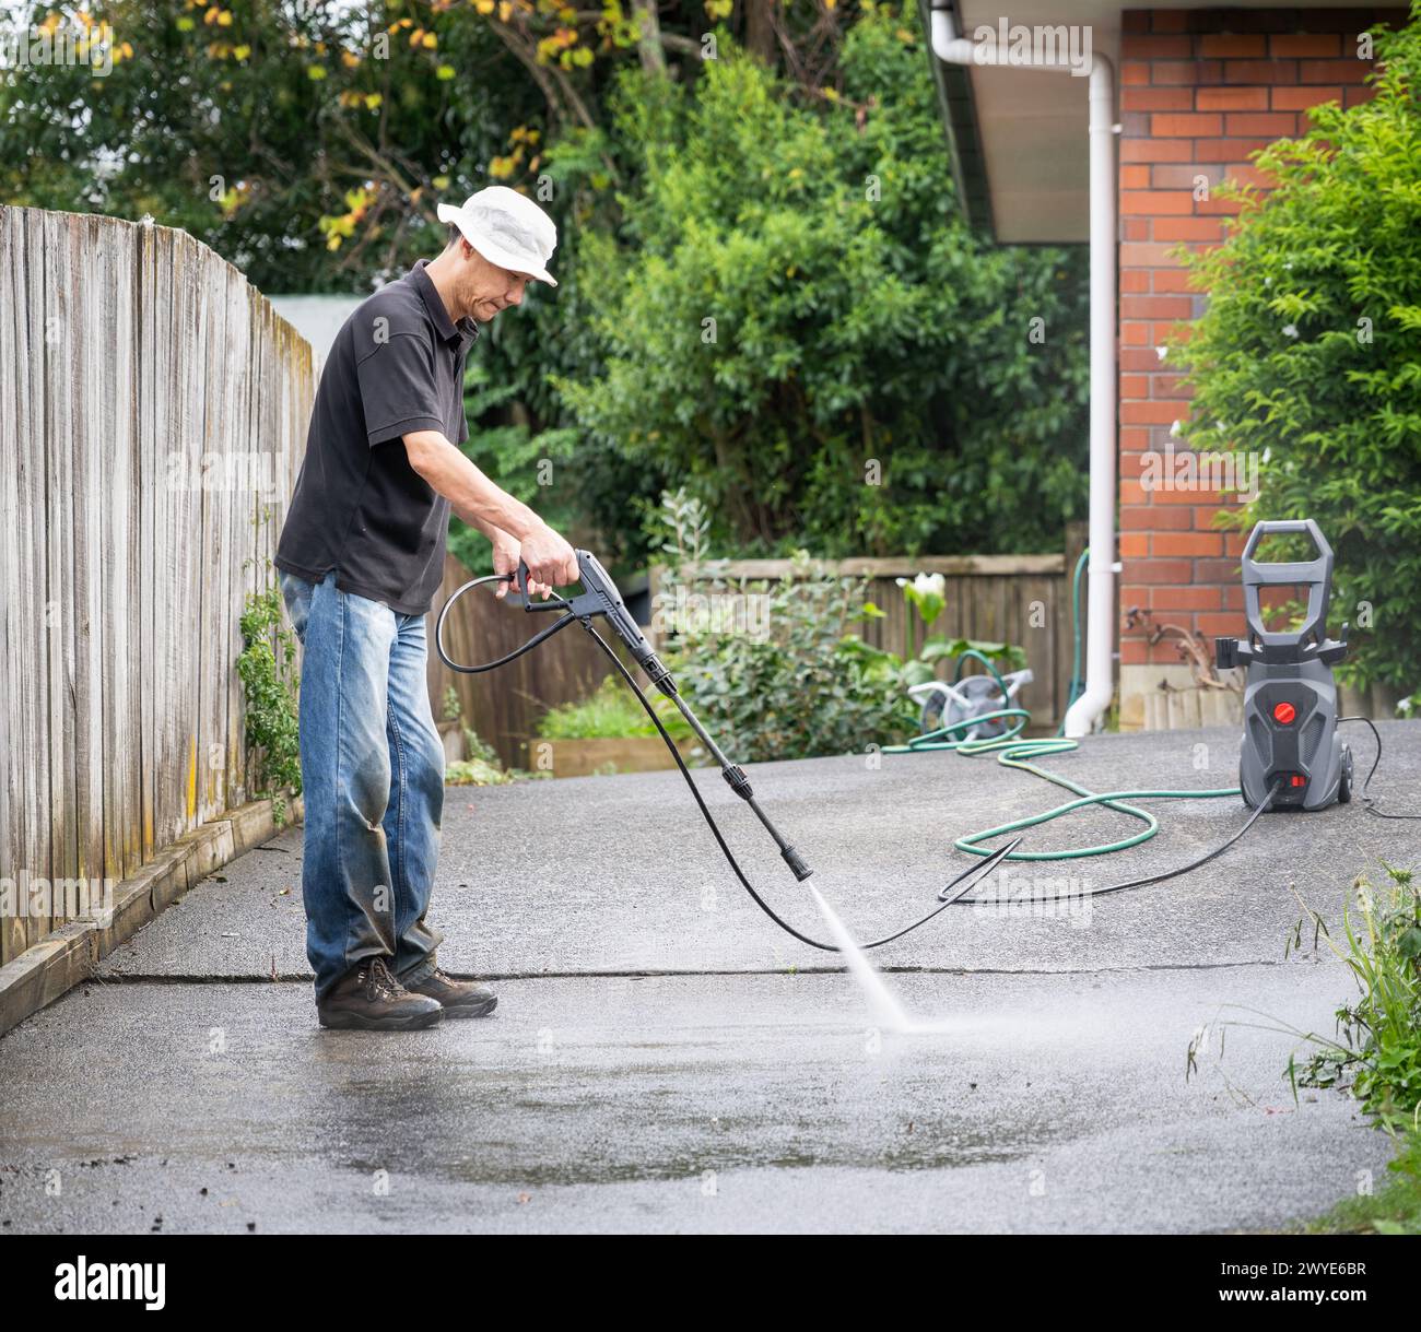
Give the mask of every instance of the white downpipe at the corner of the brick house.
MULTIPOLYGON (((1000 44, 958 37, 948 9, 932 10, 932 50, 955 65, 1010 65, 1069 74, 1070 64, 1023 64, 1000 44)), ((1090 605, 1086 692, 1066 713, 1066 734, 1087 734, 1115 692, 1115 91, 1110 61, 1090 61, 1090 605)))

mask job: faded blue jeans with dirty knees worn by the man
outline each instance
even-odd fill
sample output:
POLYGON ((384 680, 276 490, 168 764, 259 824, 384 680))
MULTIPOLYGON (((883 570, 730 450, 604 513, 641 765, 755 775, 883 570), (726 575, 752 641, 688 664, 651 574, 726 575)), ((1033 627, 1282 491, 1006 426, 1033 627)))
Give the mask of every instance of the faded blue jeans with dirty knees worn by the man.
POLYGON ((435 968, 425 923, 439 862, 443 744, 429 710, 425 618, 280 574, 301 642, 306 956, 315 997, 367 957, 405 984, 435 968))

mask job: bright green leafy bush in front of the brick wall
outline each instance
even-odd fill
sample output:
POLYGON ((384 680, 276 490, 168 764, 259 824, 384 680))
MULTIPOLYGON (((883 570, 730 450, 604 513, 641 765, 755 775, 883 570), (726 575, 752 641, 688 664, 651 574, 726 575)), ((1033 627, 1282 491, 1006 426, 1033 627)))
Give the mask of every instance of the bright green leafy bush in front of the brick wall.
POLYGON ((1377 55, 1373 101, 1322 107, 1307 135, 1258 155, 1277 189, 1228 192, 1243 212, 1191 261, 1209 307, 1169 359, 1195 386, 1189 443, 1262 459, 1242 521, 1312 517, 1331 542, 1354 677, 1407 689, 1421 683, 1421 6, 1377 55))

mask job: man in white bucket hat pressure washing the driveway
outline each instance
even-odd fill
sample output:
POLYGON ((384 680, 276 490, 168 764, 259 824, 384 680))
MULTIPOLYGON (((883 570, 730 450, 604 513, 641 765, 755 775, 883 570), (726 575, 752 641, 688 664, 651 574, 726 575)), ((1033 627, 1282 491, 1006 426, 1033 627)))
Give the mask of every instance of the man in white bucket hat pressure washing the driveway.
POLYGON ((439 968, 443 936, 425 920, 443 812, 425 615, 450 507, 493 542, 496 572, 522 558, 543 596, 577 581, 567 541, 458 449, 479 324, 522 304, 534 278, 557 285, 546 267, 557 227, 503 186, 438 213, 450 223, 443 253, 335 337, 276 555, 304 649, 301 895, 323 1027, 411 1030, 497 1003, 439 968))

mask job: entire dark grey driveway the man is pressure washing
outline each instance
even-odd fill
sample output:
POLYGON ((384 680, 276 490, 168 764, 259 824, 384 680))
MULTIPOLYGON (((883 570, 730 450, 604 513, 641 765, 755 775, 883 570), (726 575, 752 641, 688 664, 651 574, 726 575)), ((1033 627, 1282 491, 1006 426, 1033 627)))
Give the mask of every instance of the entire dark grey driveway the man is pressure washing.
MULTIPOLYGON (((1421 728, 1383 734, 1378 790, 1421 807, 1421 728)), ((1350 738, 1364 773, 1370 737, 1350 738)), ((1235 734, 1198 731, 1096 737, 1046 765, 1094 790, 1195 790, 1232 784, 1236 763, 1235 734)), ((969 863, 955 835, 1063 798, 951 754, 750 775, 860 937, 969 863)), ((752 882, 823 936, 753 815, 715 773, 698 782, 752 882)), ((1285 940, 1295 889, 1339 920, 1358 873, 1421 861, 1421 825, 1358 804, 1266 815, 1164 885, 1066 910, 949 909, 875 954, 915 1020, 901 1032, 834 954, 749 902, 678 774, 448 794, 431 919, 446 968, 499 978, 495 1017, 320 1030, 288 831, 0 1041, 0 1223, 1199 1231, 1286 1225, 1381 1181, 1388 1142, 1351 1102, 1289 1089, 1304 1047, 1287 1030, 1331 1034, 1354 990, 1326 950, 1285 959, 1285 940)), ((1013 866, 1007 889, 1167 869, 1246 817, 1235 799, 1151 808, 1154 841, 1013 866)), ((1134 828, 1090 811, 1023 849, 1134 828)))

